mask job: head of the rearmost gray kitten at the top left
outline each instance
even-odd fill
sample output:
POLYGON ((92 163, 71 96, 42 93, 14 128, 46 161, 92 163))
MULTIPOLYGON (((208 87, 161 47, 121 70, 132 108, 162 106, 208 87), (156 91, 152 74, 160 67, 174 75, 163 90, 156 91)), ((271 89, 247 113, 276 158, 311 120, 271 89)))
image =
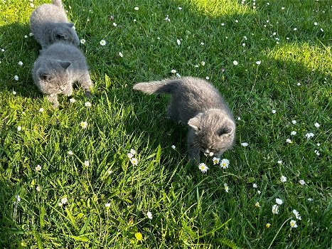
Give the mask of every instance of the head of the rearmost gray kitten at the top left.
POLYGON ((73 26, 74 23, 55 23, 51 34, 51 39, 53 41, 51 43, 61 41, 63 43, 71 43, 75 46, 79 46, 80 41, 73 26))

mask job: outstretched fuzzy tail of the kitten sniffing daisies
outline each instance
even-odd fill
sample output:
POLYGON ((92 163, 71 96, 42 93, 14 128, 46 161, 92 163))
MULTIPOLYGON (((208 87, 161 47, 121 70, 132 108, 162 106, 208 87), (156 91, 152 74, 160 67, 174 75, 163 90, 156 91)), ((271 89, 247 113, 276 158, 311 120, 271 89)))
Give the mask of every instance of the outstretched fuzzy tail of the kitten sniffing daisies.
POLYGON ((147 94, 152 93, 173 93, 176 91, 176 86, 180 83, 179 79, 166 79, 160 81, 150 81, 144 83, 137 83, 134 85, 134 90, 146 92, 147 94))

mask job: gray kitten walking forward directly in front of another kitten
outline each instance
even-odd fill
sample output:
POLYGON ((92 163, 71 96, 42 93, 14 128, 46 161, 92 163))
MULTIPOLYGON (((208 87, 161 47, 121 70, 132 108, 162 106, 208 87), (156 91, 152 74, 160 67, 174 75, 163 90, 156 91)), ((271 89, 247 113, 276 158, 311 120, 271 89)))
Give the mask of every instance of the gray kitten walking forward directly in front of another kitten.
POLYGON ((41 50, 33 65, 32 76, 53 107, 59 105, 58 94, 72 94, 75 81, 80 83, 87 96, 91 94, 92 82, 85 56, 71 44, 54 43, 41 50))

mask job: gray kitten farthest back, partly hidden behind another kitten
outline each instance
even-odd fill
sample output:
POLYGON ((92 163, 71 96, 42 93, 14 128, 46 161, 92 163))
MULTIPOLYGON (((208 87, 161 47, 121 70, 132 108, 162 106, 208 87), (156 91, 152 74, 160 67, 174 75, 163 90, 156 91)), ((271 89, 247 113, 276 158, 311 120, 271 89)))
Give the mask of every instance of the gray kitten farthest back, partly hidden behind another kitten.
POLYGON ((80 45, 74 23, 69 23, 61 0, 53 0, 52 4, 42 4, 30 16, 30 28, 42 48, 56 41, 80 45))

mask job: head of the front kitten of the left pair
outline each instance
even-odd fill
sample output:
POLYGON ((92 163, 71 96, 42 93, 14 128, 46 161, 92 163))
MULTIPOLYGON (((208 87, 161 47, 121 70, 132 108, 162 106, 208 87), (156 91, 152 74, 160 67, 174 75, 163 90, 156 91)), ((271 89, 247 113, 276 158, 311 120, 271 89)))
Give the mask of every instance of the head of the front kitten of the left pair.
POLYGON ((38 88, 45 94, 59 94, 67 88, 70 83, 68 68, 70 62, 62 60, 43 61, 41 67, 36 71, 38 88))

